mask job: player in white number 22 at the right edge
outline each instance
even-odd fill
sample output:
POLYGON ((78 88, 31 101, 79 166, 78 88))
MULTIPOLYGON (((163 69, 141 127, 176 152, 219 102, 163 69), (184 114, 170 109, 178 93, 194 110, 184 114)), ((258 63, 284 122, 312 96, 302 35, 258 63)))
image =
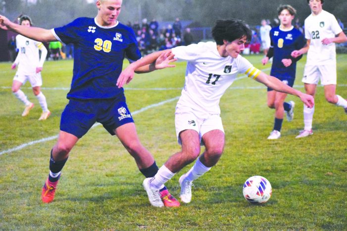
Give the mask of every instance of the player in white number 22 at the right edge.
MULTIPOLYGON (((347 101, 336 94, 336 50, 335 43, 347 42, 346 34, 342 31, 335 16, 323 10, 324 0, 307 0, 312 13, 305 19, 305 38, 307 46, 294 50, 293 57, 307 52, 307 61, 302 82, 307 94, 315 96, 317 84, 320 80, 324 86, 325 98, 329 103, 345 108, 347 101)), ((303 106, 304 129, 296 138, 313 134, 312 120, 314 107, 303 106)))

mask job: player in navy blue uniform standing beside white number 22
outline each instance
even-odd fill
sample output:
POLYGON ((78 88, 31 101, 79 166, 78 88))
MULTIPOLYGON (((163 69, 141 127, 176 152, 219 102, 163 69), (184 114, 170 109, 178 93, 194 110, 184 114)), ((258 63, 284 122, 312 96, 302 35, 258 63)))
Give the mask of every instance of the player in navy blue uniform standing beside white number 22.
MULTIPOLYGON (((296 9, 291 5, 281 5, 278 8, 278 18, 281 21, 280 26, 274 27, 270 31, 271 46, 262 63, 265 65, 273 57, 271 76, 275 76, 283 83, 293 87, 297 68, 297 61, 302 57, 293 58, 293 50, 304 46, 302 33, 294 28, 292 20, 296 14, 296 9)), ((294 117, 294 101, 285 102, 286 93, 276 92, 271 88, 267 89, 267 105, 275 108, 275 122, 273 131, 267 139, 278 139, 281 137, 281 128, 284 111, 286 111, 288 121, 294 117)))

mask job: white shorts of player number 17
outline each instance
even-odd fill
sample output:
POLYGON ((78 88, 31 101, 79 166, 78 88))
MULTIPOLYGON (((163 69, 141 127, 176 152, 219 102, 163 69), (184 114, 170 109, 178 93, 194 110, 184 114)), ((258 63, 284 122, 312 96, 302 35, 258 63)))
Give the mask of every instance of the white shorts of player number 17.
POLYGON ((199 134, 200 145, 203 145, 202 136, 212 130, 221 130, 224 133, 222 118, 219 114, 209 114, 194 111, 190 107, 177 105, 175 112, 175 127, 177 141, 182 145, 180 133, 184 130, 195 130, 199 134))

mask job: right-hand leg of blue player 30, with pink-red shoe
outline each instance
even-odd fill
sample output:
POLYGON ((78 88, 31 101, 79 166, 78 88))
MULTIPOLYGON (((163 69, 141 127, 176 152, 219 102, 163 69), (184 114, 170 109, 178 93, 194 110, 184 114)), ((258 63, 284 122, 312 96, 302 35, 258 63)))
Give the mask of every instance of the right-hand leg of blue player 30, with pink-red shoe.
MULTIPOLYGON (((127 123, 115 129, 114 133, 128 152, 134 157, 140 172, 149 179, 158 172, 158 167, 150 152, 141 144, 134 123, 127 123)), ((165 185, 160 185, 154 194, 154 201, 149 202, 156 207, 178 207, 179 201, 173 197, 165 185)))

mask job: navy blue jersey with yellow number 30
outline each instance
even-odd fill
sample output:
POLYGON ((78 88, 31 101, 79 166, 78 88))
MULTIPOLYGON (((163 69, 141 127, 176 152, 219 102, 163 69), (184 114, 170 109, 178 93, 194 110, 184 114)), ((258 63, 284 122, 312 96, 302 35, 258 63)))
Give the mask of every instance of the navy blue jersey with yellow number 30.
POLYGON ((124 94, 116 86, 123 59, 138 60, 141 53, 134 31, 121 24, 102 27, 94 18, 77 18, 52 29, 57 40, 74 45, 74 67, 67 98, 104 99, 124 94))

